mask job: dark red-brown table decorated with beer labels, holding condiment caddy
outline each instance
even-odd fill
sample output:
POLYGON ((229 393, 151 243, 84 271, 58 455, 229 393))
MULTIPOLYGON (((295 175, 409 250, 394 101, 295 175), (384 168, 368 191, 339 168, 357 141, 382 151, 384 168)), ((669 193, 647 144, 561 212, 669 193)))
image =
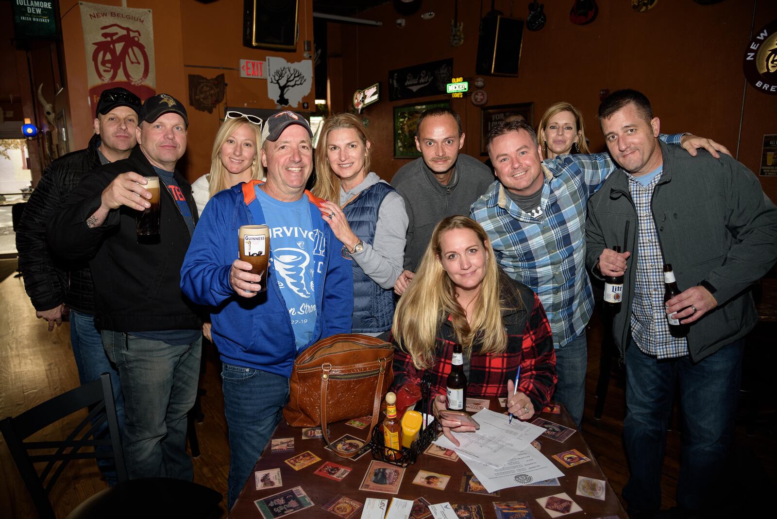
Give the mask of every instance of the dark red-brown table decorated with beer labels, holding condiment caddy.
MULTIPOLYGON (((560 414, 542 413, 540 416, 545 418, 545 420, 560 423, 561 425, 574 429, 574 423, 566 413, 566 409, 563 409, 561 406, 559 407, 561 408, 560 414)), ((501 409, 499 402, 496 399, 491 402, 490 409, 494 411, 499 411, 501 409)), ((345 423, 330 424, 329 430, 331 431, 331 434, 329 435, 331 441, 335 441, 343 434, 351 434, 361 438, 367 436, 367 429, 359 430, 355 427, 350 427, 345 423)), ((572 517, 587 517, 589 519, 606 516, 628 517, 618 501, 618 496, 615 495, 615 491, 607 481, 607 478, 601 471, 601 467, 594 459, 591 450, 588 448, 579 431, 563 443, 542 436, 538 437, 538 441, 541 444, 540 451, 548 458, 551 458, 552 455, 559 454, 559 452, 577 449, 588 458, 591 458, 591 462, 577 465, 572 468, 563 468, 558 462, 553 460, 554 465, 561 469, 565 474, 563 478, 559 478, 560 486, 517 486, 500 490, 499 496, 461 492, 460 486, 462 484, 463 475, 465 472, 469 472, 467 465, 461 460, 451 462, 427 454, 420 455, 415 464, 406 467, 398 494, 392 495, 388 493, 365 492, 364 490, 360 490, 359 486, 361 486, 364 474, 367 472, 368 466, 373 459, 370 452, 356 461, 351 461, 347 458, 339 458, 334 455, 333 452, 324 449, 326 444, 323 439, 302 439, 301 432, 301 428, 289 427, 287 423, 281 420, 273 437, 293 437, 294 451, 273 453, 270 452, 270 444, 267 444, 267 448, 259 458, 259 461, 256 462, 254 471, 280 468, 282 486, 257 490, 252 472, 251 477, 248 482, 246 482, 246 486, 242 489, 238 500, 235 502, 235 506, 232 507, 229 517, 261 517, 259 510, 254 504, 255 500, 271 496, 283 490, 292 489, 296 486, 301 486, 302 489, 305 490, 305 493, 307 493, 312 502, 315 503, 315 506, 301 510, 299 513, 293 514, 293 517, 337 517, 336 515, 323 510, 322 505, 329 503, 337 494, 343 494, 362 504, 364 504, 364 501, 368 497, 388 499, 390 503, 392 497, 416 500, 420 496, 423 496, 432 504, 444 503, 445 501, 448 501, 449 503, 480 504, 483 507, 483 517, 497 517, 492 505, 494 501, 526 501, 531 508, 531 512, 534 514, 535 519, 546 519, 547 517, 550 517, 549 514, 540 507, 536 500, 558 493, 566 493, 583 509, 581 512, 568 514, 572 517), (322 461, 315 462, 313 465, 302 468, 299 471, 295 471, 294 468, 291 468, 291 466, 284 462, 305 451, 311 451, 321 458, 322 461), (324 462, 334 462, 339 465, 353 468, 353 470, 342 481, 333 481, 332 479, 326 479, 314 474, 315 469, 319 468, 324 462), (437 490, 414 485, 413 478, 415 478, 416 474, 421 469, 450 475, 451 479, 448 482, 448 486, 444 490, 437 490), (578 496, 576 493, 577 476, 580 475, 605 480, 605 500, 595 500, 586 496, 578 496)), ((354 515, 357 519, 360 516, 361 510, 354 515)))

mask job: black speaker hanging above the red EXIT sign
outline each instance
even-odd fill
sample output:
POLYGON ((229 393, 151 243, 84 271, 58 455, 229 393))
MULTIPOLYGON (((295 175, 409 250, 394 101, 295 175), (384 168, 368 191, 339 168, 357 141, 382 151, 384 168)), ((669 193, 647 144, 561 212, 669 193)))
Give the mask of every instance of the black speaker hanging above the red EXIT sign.
POLYGON ((243 0, 243 45, 296 51, 298 0, 243 0))

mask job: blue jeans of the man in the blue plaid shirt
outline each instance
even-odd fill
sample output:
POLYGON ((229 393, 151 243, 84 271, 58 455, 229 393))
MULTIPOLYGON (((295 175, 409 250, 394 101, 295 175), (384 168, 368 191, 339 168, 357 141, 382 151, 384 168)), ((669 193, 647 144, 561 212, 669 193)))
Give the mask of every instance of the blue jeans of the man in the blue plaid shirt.
POLYGON ((553 401, 566 407, 580 429, 585 405, 585 371, 588 364, 588 344, 585 330, 562 348, 556 348, 556 392, 553 401))

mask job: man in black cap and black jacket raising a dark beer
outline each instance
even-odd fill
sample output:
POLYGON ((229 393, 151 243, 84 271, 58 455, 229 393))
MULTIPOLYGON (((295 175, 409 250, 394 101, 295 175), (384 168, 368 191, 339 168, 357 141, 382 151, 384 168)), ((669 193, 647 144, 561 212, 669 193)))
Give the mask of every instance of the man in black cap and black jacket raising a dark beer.
POLYGON ((159 94, 146 99, 129 158, 86 176, 47 232, 67 259, 89 259, 96 325, 124 392, 124 455, 131 479, 191 480, 186 413, 197 393, 201 323, 181 294, 179 270, 197 211, 176 171, 186 152, 186 108, 159 94), (146 177, 159 177, 159 242, 139 243, 135 218, 150 207, 146 177))

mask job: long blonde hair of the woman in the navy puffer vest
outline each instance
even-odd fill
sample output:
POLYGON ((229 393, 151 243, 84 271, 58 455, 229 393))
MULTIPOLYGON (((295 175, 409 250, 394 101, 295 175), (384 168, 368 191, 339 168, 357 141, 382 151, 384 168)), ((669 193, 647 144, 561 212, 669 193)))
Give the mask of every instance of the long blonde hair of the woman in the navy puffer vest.
POLYGON ((333 204, 340 205, 340 177, 335 175, 329 165, 327 155, 327 143, 329 132, 333 130, 345 130, 351 128, 364 146, 364 174, 370 172, 370 157, 372 155, 367 143, 370 141, 367 128, 353 113, 337 113, 327 117, 321 125, 319 145, 315 147, 315 183, 311 192, 319 198, 329 200, 333 204))

